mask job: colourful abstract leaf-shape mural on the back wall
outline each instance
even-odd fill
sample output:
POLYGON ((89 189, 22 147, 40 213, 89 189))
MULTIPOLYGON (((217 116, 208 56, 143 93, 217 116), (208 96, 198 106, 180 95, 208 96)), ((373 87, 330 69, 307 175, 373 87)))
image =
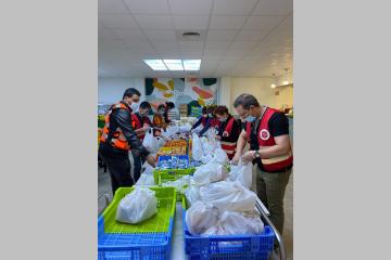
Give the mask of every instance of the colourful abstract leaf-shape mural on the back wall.
POLYGON ((154 109, 164 102, 201 107, 217 103, 217 78, 146 78, 146 100, 154 109))

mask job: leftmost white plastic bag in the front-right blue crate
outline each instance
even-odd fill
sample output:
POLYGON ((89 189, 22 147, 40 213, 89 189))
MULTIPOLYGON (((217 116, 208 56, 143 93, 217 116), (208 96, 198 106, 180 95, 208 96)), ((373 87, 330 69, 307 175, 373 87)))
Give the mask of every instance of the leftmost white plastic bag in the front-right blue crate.
POLYGON ((191 234, 199 235, 217 222, 217 209, 203 202, 197 202, 186 211, 186 223, 191 234))

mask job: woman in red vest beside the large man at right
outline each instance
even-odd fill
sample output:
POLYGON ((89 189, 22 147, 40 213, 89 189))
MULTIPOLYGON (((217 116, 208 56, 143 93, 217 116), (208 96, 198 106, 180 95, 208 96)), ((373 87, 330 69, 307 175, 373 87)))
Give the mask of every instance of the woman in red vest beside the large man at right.
POLYGON ((226 106, 217 106, 214 110, 216 119, 220 122, 216 139, 222 142, 222 148, 231 160, 235 155, 238 138, 240 134, 239 122, 228 113, 226 106))

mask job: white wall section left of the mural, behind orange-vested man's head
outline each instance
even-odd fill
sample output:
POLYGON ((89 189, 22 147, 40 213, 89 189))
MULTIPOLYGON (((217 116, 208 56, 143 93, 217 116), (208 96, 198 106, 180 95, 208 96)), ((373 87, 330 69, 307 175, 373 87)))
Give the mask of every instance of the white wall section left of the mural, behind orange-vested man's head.
POLYGON ((141 93, 141 101, 146 99, 144 78, 110 78, 98 79, 98 103, 113 104, 122 100, 127 88, 135 88, 141 93))

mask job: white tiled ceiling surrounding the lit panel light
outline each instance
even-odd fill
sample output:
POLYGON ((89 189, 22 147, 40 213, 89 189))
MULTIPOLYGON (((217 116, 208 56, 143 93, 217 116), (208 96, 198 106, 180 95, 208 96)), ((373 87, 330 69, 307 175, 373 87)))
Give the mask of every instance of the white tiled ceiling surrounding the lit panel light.
POLYGON ((186 76, 144 58, 201 58, 199 77, 272 77, 293 65, 293 0, 99 0, 98 31, 100 77, 186 76))

